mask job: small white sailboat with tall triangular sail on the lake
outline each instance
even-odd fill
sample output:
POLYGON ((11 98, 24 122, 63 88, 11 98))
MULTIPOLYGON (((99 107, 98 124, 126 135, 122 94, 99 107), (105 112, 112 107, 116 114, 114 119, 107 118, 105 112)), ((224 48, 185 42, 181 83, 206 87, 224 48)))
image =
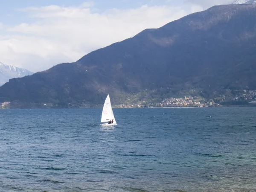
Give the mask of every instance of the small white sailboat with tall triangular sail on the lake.
POLYGON ((101 119, 102 125, 117 125, 116 119, 114 117, 114 113, 111 107, 110 97, 109 94, 105 100, 103 110, 102 110, 102 119, 101 119), (108 124, 110 120, 113 119, 113 123, 108 124))

